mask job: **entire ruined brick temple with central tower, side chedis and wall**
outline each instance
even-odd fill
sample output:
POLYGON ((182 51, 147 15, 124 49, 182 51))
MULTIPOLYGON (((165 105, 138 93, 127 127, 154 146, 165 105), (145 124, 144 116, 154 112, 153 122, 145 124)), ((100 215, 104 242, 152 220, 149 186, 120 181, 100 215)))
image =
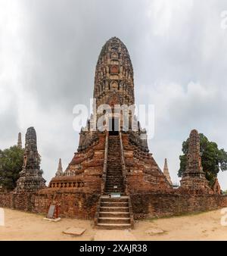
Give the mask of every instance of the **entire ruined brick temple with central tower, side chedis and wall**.
POLYGON ((0 193, 0 206, 46 214, 50 204, 58 204, 61 217, 94 218, 95 226, 111 229, 133 227, 139 218, 227 205, 226 197, 219 195, 218 181, 216 189, 208 186, 196 130, 191 131, 181 186, 173 189, 167 162, 162 172, 149 153, 146 130, 132 111, 129 129, 125 129, 123 113, 114 107, 135 105, 134 78, 129 52, 116 37, 105 43, 98 57, 94 98, 94 113, 79 133, 72 161, 63 171, 60 159, 48 187, 39 169, 36 132, 33 128, 27 131, 17 188, 8 194, 0 193), (104 130, 97 129, 101 105, 110 106, 104 130))

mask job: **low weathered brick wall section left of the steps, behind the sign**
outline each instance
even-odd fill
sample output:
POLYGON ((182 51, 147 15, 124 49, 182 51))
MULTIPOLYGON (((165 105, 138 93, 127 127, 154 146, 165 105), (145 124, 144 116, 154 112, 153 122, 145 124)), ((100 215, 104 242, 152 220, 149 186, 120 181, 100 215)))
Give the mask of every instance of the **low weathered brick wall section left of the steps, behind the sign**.
POLYGON ((59 204, 60 217, 92 219, 95 217, 99 194, 61 193, 0 193, 0 207, 47 214, 50 204, 59 204))

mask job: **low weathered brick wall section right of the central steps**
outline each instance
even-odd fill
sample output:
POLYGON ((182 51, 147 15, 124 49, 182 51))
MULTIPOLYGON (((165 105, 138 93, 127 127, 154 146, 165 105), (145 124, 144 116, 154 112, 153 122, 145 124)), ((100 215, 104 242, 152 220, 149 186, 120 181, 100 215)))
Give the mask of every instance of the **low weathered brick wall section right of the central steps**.
POLYGON ((174 216, 227 207, 227 196, 224 195, 133 194, 131 201, 135 219, 174 216))

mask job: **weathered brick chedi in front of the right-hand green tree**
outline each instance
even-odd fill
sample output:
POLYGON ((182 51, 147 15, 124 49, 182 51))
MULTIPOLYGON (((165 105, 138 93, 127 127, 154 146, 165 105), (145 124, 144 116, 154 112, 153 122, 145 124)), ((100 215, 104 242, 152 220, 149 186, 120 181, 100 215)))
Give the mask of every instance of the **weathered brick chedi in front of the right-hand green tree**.
POLYGON ((182 176, 181 188, 211 192, 201 163, 200 136, 197 130, 191 130, 189 136, 187 165, 182 176))

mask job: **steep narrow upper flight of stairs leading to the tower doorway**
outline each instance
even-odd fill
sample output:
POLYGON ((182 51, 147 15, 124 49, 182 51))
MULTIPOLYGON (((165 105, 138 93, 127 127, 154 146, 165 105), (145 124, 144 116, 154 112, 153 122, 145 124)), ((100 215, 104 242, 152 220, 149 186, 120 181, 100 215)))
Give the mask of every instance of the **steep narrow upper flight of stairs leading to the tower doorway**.
POLYGON ((123 173, 120 155, 120 137, 109 136, 107 157, 107 178, 105 193, 120 192, 123 194, 123 173))

